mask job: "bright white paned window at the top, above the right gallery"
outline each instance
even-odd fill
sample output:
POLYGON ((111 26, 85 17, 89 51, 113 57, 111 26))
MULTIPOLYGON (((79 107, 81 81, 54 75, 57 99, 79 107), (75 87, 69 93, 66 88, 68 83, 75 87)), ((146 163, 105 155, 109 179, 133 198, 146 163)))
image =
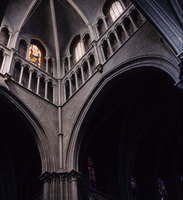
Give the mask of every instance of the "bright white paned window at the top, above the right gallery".
POLYGON ((116 1, 111 5, 109 13, 113 22, 123 13, 123 8, 119 1, 116 1))

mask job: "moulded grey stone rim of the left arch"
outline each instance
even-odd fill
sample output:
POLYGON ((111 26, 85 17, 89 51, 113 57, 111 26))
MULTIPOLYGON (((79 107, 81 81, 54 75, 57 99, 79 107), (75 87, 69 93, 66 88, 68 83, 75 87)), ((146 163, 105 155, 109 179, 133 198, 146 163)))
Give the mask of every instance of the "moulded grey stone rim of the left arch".
POLYGON ((12 112, 13 116, 17 116, 21 123, 27 127, 27 131, 30 132, 30 137, 34 141, 40 154, 41 173, 53 170, 55 168, 55 163, 52 157, 52 150, 49 145, 49 141, 41 124, 35 118, 34 114, 22 103, 21 100, 1 85, 0 102, 1 104, 5 104, 5 106, 8 105, 8 108, 12 112))

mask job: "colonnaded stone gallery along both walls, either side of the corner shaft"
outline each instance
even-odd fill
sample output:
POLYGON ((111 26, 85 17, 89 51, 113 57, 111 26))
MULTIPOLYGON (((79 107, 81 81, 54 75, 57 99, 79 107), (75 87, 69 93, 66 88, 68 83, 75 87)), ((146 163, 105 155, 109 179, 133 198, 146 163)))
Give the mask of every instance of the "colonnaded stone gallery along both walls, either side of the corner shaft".
MULTIPOLYGON (((67 55, 62 62, 61 68, 63 89, 63 103, 75 94, 96 71, 101 71, 102 66, 108 59, 121 48, 127 40, 142 26, 146 21, 144 16, 130 4, 115 22, 107 21, 105 16, 101 16, 98 21, 103 20, 104 29, 102 34, 98 27, 94 25, 97 34, 97 41, 92 41, 91 47, 76 63, 71 62, 71 55, 67 55)), ((56 85, 57 79, 55 62, 53 60, 53 72, 48 69, 49 59, 45 59, 45 66, 38 68, 21 56, 17 51, 11 51, 5 45, 0 43, 0 66, 3 71, 3 62, 5 57, 12 57, 10 71, 13 80, 26 87, 33 93, 42 98, 56 103, 56 85), (45 70, 43 70, 45 69, 45 70)), ((4 72, 5 73, 5 72, 4 72)), ((6 72, 7 73, 7 72, 6 72)))

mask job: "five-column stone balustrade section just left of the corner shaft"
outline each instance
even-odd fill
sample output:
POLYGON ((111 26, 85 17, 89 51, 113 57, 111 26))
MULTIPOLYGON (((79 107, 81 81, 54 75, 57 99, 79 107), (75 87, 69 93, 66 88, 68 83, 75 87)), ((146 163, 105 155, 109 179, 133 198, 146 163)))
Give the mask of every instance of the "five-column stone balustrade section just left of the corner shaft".
POLYGON ((56 103, 57 80, 51 74, 30 63, 18 53, 14 54, 12 68, 14 81, 40 97, 56 103))

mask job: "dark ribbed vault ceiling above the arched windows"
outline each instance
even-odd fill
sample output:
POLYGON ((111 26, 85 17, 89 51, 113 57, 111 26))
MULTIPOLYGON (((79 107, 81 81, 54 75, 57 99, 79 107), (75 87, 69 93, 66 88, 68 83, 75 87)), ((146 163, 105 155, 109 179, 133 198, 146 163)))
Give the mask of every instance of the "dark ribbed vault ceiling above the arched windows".
MULTIPOLYGON (((103 0, 53 0, 59 51, 62 55, 71 36, 92 24, 103 0)), ((4 23, 13 32, 40 38, 55 53, 54 23, 50 0, 10 0, 4 23)))

